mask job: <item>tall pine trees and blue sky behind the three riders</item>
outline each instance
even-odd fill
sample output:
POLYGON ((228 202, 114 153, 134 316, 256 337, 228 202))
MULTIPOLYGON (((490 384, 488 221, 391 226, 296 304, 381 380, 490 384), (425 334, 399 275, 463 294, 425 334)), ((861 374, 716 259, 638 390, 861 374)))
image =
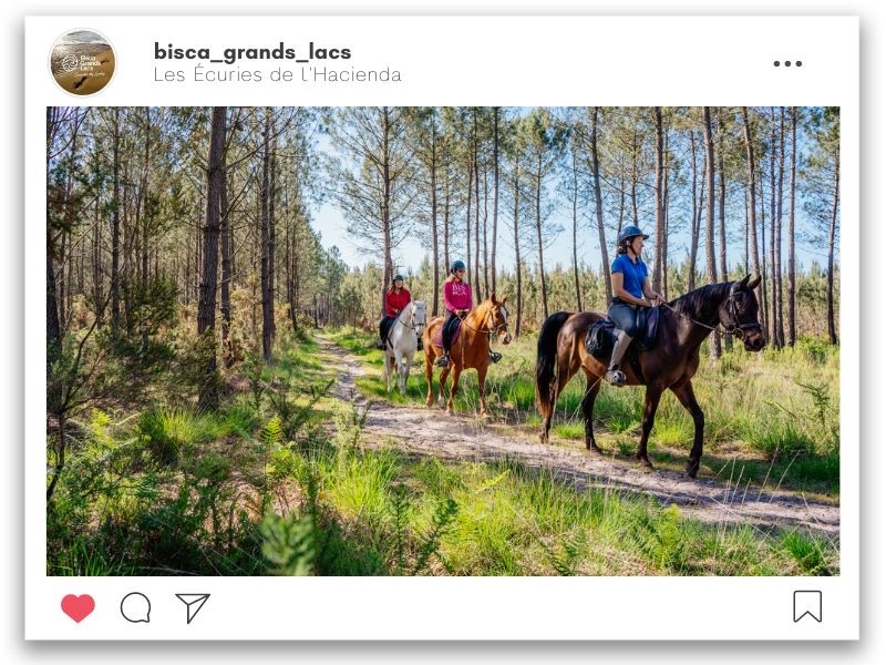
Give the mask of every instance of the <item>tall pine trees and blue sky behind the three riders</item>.
POLYGON ((55 412, 105 337, 188 330, 212 407, 279 326, 374 325, 394 272, 440 314, 456 258, 517 335, 605 309, 628 224, 669 298, 756 273, 774 346, 837 341, 835 108, 49 108, 47 178, 55 412))

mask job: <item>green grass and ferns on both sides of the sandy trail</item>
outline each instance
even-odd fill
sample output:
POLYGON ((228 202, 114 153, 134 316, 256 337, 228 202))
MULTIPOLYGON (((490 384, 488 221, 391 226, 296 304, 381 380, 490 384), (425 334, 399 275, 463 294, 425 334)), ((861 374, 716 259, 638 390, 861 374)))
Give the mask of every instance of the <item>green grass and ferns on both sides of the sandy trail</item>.
MULTIPOLYGON (((339 332, 336 339, 361 349, 364 365, 375 368, 358 382, 360 390, 423 403, 423 377, 411 379, 405 398, 383 390, 381 355, 369 348, 368 336, 339 332)), ((534 437, 532 341, 502 349, 505 360, 491 371, 490 403, 494 417, 534 437)), ((838 441, 828 434, 835 393, 818 376, 815 383, 796 381, 799 368, 813 361, 832 372, 834 357, 827 347, 810 349, 786 358, 730 356, 725 374, 702 371, 699 397, 709 402, 713 436, 722 437, 709 442, 709 473, 838 494, 838 441), (722 399, 714 400, 714 391, 722 399), (754 423, 754 409, 773 422, 754 423), (752 446, 767 441, 780 443, 752 446)), ((387 446, 363 448, 360 415, 318 393, 332 374, 318 350, 311 340, 284 340, 275 362, 255 366, 258 400, 244 389, 216 412, 164 403, 134 413, 94 410, 79 423, 48 511, 48 573, 839 572, 837 546, 804 532, 702 523, 642 494, 577 491, 514 460, 450 463, 387 446), (289 433, 285 417, 295 423, 289 433)), ((477 408, 473 381, 474 397, 468 375, 457 401, 466 413, 477 408)), ((557 409, 554 433, 560 439, 584 439, 575 412, 583 383, 570 385, 557 409)), ((640 400, 639 391, 605 387, 598 440, 632 456, 640 400)), ((681 466, 690 438, 687 415, 672 398, 663 400, 650 442, 657 463, 681 466)))

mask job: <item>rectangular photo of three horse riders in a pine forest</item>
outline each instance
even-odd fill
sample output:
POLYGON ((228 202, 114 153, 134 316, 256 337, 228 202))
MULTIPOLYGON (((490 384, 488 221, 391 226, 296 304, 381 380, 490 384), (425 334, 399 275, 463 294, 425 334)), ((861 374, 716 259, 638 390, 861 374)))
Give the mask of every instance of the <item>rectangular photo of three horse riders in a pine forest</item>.
POLYGON ((45 116, 48 576, 841 574, 839 106, 45 116))

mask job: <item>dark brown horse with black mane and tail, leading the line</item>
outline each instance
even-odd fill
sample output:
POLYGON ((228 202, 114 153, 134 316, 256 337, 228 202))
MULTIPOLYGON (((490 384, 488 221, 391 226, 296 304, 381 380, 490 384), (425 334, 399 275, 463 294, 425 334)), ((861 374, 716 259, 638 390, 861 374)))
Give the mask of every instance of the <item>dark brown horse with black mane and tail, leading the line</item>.
MULTIPOLYGON (((686 464, 686 472, 696 478, 704 440, 704 413, 692 391, 692 377, 699 368, 701 342, 720 325, 741 339, 749 351, 759 351, 765 346, 763 329, 758 319, 759 305, 753 291, 760 284, 760 277, 750 284, 749 279, 750 275, 741 282, 703 286, 662 305, 656 346, 638 354, 641 377, 637 376, 631 362, 622 362, 621 370, 628 377, 628 385, 646 386, 646 408, 637 459, 647 467, 652 466, 646 448, 658 402, 662 392, 670 389, 691 413, 696 426, 692 451, 686 464)), ((542 326, 535 388, 538 411, 544 419, 543 443, 548 441, 550 418, 557 397, 569 379, 581 369, 587 379, 587 390, 581 400, 585 446, 588 450, 601 452, 594 440, 594 400, 600 390, 600 377, 606 374, 607 366, 587 352, 585 336, 591 324, 602 317, 602 314, 596 311, 558 311, 550 315, 542 326)))

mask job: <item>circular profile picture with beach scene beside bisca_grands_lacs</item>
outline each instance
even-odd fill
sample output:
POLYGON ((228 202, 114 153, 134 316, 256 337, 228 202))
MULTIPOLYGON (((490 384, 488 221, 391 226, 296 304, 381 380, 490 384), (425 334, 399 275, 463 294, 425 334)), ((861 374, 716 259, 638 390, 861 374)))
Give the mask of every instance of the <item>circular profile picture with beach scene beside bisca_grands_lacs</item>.
POLYGON ((52 78, 65 92, 95 94, 111 82, 115 66, 114 49, 94 30, 71 30, 52 45, 52 78))

